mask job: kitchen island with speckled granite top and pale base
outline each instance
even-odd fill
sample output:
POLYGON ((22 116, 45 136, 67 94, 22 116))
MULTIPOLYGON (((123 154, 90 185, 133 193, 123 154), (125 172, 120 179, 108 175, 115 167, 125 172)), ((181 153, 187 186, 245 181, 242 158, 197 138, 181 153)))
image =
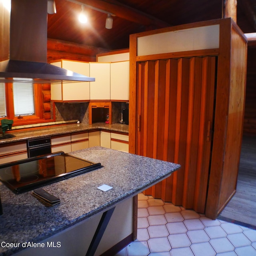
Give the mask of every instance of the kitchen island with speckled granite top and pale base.
POLYGON ((116 243, 126 241, 127 244, 128 237, 132 238, 134 232, 132 198, 180 168, 178 164, 102 147, 70 154, 100 162, 103 167, 44 186, 45 190, 60 198, 61 202, 56 206, 45 207, 32 196, 32 192, 16 195, 0 184, 3 206, 0 255, 16 252, 17 255, 86 255, 102 213, 114 207, 110 219, 112 224, 109 223, 110 228, 107 227, 95 255, 110 250, 116 243), (112 189, 99 190, 103 184, 112 189), (124 224, 126 219, 129 220, 124 224), (118 240, 120 233, 124 237, 118 240), (75 240, 74 234, 78 234, 75 240), (114 244, 108 242, 112 237, 116 238, 114 244))

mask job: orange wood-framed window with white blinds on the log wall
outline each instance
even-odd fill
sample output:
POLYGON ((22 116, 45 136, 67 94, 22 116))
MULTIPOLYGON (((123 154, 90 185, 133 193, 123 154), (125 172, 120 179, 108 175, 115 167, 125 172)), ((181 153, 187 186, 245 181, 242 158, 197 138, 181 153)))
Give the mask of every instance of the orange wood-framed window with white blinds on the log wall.
POLYGON ((0 83, 0 118, 23 125, 42 120, 42 85, 0 83))

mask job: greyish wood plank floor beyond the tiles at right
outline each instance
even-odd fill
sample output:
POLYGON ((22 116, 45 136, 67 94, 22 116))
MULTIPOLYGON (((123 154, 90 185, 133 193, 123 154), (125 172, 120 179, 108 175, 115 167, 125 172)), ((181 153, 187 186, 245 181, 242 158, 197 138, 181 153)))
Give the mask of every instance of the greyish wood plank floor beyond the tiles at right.
POLYGON ((243 136, 236 194, 218 219, 256 229, 256 136, 243 136))

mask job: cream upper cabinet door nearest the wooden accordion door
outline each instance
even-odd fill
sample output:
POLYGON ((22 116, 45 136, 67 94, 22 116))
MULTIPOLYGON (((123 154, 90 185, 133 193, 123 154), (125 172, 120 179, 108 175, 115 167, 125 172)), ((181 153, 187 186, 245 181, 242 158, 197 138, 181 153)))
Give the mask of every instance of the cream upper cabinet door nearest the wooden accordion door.
POLYGON ((110 99, 129 100, 129 61, 110 64, 110 99))

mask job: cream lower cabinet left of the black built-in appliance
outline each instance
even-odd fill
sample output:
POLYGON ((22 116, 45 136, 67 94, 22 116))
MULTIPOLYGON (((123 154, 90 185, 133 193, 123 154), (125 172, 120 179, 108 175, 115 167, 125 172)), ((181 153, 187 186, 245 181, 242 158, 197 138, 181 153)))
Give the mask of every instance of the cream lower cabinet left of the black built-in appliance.
POLYGON ((1 146, 0 164, 6 164, 28 158, 26 142, 17 142, 1 146))

